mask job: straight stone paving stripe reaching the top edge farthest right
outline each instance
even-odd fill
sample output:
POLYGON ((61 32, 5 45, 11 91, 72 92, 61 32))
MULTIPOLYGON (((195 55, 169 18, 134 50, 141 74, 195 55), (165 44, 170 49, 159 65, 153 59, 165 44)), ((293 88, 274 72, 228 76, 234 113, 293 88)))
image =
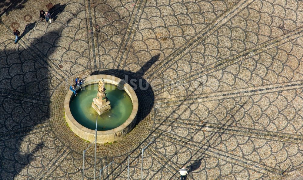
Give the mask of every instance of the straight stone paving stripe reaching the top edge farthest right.
POLYGON ((159 68, 154 68, 145 73, 144 77, 147 80, 152 80, 154 77, 158 75, 158 73, 164 72, 167 70, 173 63, 181 59, 186 53, 188 53, 195 46, 200 44, 204 39, 210 36, 213 32, 215 32, 218 28, 220 28, 223 24, 225 24, 229 19, 234 17, 236 14, 241 12, 244 8, 246 8, 251 2, 254 0, 241 0, 236 3, 233 7, 231 7, 228 11, 223 13, 218 19, 213 21, 210 25, 201 30, 195 37, 191 38, 184 45, 175 50, 172 54, 170 54, 165 60, 159 63, 159 68))

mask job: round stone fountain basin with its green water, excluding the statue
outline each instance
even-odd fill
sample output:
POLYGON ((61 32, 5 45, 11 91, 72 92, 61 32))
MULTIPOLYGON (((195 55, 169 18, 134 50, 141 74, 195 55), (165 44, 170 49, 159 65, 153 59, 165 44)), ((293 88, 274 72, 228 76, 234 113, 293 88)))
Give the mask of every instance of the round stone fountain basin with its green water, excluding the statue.
MULTIPOLYGON (((65 119, 68 126, 79 137, 95 141, 97 118, 97 143, 113 142, 123 137, 134 127, 138 98, 135 91, 124 80, 110 75, 93 75, 83 80, 82 90, 74 93, 68 90, 65 96, 65 119), (103 78, 106 97, 111 109, 98 115, 92 108, 93 98, 97 97, 98 83, 103 78)), ((98 98, 98 97, 97 97, 98 98)))

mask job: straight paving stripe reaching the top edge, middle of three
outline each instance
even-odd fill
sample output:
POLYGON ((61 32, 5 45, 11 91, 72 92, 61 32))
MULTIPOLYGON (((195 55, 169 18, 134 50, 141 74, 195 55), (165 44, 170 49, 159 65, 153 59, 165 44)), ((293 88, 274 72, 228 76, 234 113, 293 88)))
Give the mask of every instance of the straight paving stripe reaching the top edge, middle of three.
POLYGON ((136 3, 134 11, 132 13, 131 19, 128 22, 128 27, 126 29, 125 36, 120 44, 120 49, 118 51, 118 55, 115 58, 115 63, 113 69, 122 69, 124 67, 125 61, 128 56, 128 52, 130 50, 132 40, 135 36, 135 31, 138 26, 140 17, 143 12, 143 8, 145 7, 147 0, 139 0, 136 3))

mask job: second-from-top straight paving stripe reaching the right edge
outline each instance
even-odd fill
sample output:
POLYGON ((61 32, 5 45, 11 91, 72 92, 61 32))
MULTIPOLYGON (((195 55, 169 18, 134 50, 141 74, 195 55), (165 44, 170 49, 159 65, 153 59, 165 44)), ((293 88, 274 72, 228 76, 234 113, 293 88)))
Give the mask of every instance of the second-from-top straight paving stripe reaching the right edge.
POLYGON ((265 85, 261 87, 248 87, 248 88, 242 88, 237 90, 228 90, 228 91, 221 91, 216 93, 193 95, 190 97, 173 97, 173 98, 158 99, 157 103, 155 103, 155 107, 175 106, 184 103, 186 104, 201 103, 201 102, 207 102, 212 100, 220 100, 220 99, 242 97, 242 96, 253 96, 257 94, 273 93, 279 91, 288 91, 288 90, 294 90, 299 88, 303 88, 302 80, 273 84, 273 85, 265 85))

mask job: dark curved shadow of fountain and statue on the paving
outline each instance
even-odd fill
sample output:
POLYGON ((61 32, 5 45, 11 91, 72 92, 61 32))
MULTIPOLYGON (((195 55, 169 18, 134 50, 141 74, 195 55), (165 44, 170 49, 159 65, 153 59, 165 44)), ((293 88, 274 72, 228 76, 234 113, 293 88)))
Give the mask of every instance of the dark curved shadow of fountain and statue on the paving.
POLYGON ((122 79, 122 82, 120 82, 120 86, 123 86, 124 83, 128 83, 135 90, 139 102, 136 124, 138 124, 140 121, 142 121, 145 117, 148 116, 154 105, 154 91, 152 90, 151 85, 142 76, 155 62, 158 61, 159 57, 160 54, 153 56, 137 72, 111 69, 104 71, 95 71, 91 73, 91 75, 107 74, 116 76, 122 79))

